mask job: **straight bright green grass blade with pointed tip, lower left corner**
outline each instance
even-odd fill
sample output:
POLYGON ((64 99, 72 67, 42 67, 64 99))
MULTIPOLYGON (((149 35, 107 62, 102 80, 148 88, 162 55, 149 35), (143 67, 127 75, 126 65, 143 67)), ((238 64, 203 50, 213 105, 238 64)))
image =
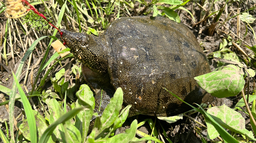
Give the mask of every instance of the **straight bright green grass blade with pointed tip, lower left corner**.
POLYGON ((18 83, 18 80, 17 80, 15 74, 12 73, 12 75, 13 75, 14 81, 17 85, 20 98, 22 98, 23 107, 24 107, 24 110, 25 110, 25 113, 26 113, 28 124, 29 124, 29 130, 30 130, 30 136, 31 136, 30 141, 32 143, 36 143, 37 142, 36 124, 35 124, 35 117, 34 117, 32 107, 29 103, 29 100, 28 100, 27 96, 25 95, 24 91, 22 90, 22 87, 18 83))

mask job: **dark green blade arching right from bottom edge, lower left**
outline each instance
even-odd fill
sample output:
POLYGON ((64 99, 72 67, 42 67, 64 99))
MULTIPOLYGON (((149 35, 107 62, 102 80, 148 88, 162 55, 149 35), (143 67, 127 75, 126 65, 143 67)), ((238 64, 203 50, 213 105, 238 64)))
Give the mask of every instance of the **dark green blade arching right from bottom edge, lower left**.
POLYGON ((45 132, 42 134, 40 140, 38 141, 38 143, 44 143, 47 142, 49 137, 52 135, 52 132, 54 131, 54 129, 62 123, 65 123, 66 121, 68 121, 69 119, 73 118, 79 111, 81 111, 82 109, 84 109, 84 107, 79 107, 76 109, 73 109, 67 113, 65 113, 65 115, 63 115, 62 117, 60 117, 57 121, 55 121, 54 123, 52 123, 46 130, 45 132))

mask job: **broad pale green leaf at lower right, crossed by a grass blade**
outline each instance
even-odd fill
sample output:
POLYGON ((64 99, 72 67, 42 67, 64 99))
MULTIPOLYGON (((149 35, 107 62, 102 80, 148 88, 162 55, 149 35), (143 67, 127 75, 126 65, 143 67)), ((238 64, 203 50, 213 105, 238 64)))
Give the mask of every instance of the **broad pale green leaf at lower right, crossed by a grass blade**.
MULTIPOLYGON (((214 116, 215 119, 218 119, 218 122, 220 122, 223 127, 233 132, 246 135, 250 139, 254 139, 253 133, 245 129, 245 119, 242 115, 225 104, 222 106, 211 107, 207 110, 207 113, 214 116)), ((214 139, 219 136, 218 131, 210 124, 209 120, 206 120, 206 125, 208 133, 207 136, 209 139, 214 139)))

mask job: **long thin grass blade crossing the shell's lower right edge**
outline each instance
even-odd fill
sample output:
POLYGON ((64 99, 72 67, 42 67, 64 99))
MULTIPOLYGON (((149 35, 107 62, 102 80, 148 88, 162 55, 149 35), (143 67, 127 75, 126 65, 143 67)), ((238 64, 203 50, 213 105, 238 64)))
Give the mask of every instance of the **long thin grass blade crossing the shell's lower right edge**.
MULTIPOLYGON (((166 91, 168 91, 167 89, 165 89, 166 91)), ((170 94, 172 94, 174 97, 176 97, 177 99, 179 99, 180 101, 182 101, 183 103, 189 105, 190 107, 194 108, 196 111, 202 113, 202 115, 204 115, 205 120, 208 120, 211 122, 212 125, 214 125, 214 127, 217 129, 217 131, 219 132, 219 134, 221 135, 221 137, 223 138, 223 140, 225 140, 225 142, 232 142, 232 143, 239 143, 233 136, 231 136, 221 125, 218 118, 215 118, 214 116, 209 115, 201 106, 199 106, 201 108, 198 109, 190 104, 188 104, 187 102, 183 101, 182 99, 180 99, 177 95, 175 95, 174 93, 168 91, 170 94), (214 119, 215 118, 215 119, 214 119)))

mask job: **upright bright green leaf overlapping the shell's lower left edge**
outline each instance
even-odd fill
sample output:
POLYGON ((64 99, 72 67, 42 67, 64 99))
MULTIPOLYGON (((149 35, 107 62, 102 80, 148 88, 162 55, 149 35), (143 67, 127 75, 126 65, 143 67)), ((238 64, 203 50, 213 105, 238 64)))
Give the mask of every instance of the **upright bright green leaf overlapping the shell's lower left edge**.
POLYGON ((96 136, 115 123, 116 119, 118 118, 119 111, 122 108, 122 103, 123 91, 121 88, 118 88, 114 96, 110 99, 110 103, 106 106, 102 113, 102 116, 100 118, 102 127, 100 129, 100 132, 96 132, 96 136))

